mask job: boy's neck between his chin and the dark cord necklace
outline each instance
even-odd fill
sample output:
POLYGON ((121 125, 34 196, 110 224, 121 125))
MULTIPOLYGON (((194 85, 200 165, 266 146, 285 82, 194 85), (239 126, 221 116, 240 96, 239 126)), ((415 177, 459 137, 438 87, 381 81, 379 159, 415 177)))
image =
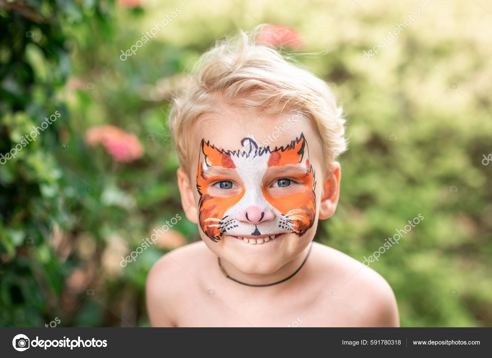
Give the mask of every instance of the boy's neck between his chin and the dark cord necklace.
POLYGON ((300 271, 299 269, 301 268, 303 262, 306 260, 307 255, 309 254, 311 245, 312 243, 309 244, 299 255, 292 257, 289 262, 281 266, 277 271, 266 275, 248 275, 242 273, 237 267, 232 265, 227 260, 220 260, 219 262, 224 269, 225 274, 229 275, 229 277, 233 278, 234 280, 252 286, 271 285, 274 283, 279 283, 279 281, 282 280, 287 281, 288 279, 293 278, 293 274, 297 275, 298 271, 300 271))

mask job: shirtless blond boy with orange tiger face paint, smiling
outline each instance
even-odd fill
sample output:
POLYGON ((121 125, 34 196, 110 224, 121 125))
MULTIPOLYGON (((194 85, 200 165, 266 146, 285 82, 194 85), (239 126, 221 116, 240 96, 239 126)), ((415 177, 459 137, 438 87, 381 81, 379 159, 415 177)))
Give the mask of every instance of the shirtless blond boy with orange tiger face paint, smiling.
POLYGON ((384 278, 312 243, 338 203, 341 109, 325 82, 257 39, 217 42, 173 101, 182 205, 202 241, 155 263, 151 324, 399 326, 384 278))

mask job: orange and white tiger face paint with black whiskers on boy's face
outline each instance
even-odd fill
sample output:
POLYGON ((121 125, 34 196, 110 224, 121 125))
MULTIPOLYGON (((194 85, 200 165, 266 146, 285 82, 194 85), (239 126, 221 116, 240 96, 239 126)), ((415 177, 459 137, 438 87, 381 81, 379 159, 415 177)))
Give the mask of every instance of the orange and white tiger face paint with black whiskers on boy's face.
POLYGON ((304 135, 275 149, 252 136, 241 146, 224 150, 202 139, 196 187, 203 232, 215 242, 224 234, 304 235, 316 215, 315 174, 304 135), (232 182, 241 188, 229 188, 232 182))

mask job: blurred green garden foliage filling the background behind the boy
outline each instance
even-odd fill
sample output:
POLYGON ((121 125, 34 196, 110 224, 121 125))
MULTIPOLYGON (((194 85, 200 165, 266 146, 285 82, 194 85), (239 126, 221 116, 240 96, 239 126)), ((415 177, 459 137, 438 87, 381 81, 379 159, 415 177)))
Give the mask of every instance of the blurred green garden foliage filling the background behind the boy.
POLYGON ((0 153, 60 118, 0 165, 0 326, 149 325, 149 269, 198 239, 181 220, 120 265, 184 217, 168 101, 215 38, 261 23, 322 53, 299 60, 349 118, 340 203, 317 240, 363 261, 421 214, 370 266, 392 286, 401 325, 492 326, 492 7, 479 2, 1 0, 0 153))

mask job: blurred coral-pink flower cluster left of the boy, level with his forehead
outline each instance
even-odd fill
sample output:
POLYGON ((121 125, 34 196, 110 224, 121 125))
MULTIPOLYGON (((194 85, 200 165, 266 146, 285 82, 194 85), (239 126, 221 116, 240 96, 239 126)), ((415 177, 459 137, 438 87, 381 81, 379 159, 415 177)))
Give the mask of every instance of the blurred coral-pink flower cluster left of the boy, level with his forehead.
POLYGON ((86 133, 86 142, 90 145, 102 143, 118 162, 131 162, 144 154, 144 148, 134 134, 126 133, 115 126, 92 127, 86 133))

